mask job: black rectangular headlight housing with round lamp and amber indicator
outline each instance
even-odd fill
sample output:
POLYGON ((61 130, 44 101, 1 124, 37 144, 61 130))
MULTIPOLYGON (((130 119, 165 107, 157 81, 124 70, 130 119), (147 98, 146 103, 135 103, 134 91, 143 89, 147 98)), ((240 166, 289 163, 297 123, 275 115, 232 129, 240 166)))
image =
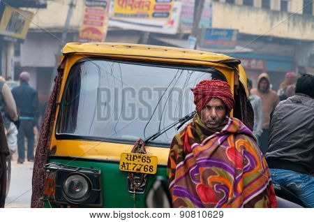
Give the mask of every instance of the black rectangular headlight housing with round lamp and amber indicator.
POLYGON ((43 200, 57 205, 103 206, 101 171, 63 163, 45 165, 43 200))

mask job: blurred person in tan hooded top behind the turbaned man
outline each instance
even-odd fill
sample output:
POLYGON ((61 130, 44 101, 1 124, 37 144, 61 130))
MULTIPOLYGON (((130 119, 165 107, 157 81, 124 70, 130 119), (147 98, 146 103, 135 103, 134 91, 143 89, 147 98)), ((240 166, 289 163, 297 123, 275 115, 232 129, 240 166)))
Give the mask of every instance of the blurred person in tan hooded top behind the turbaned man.
POLYGON ((276 91, 270 89, 271 81, 267 73, 262 73, 257 79, 257 88, 251 89, 251 94, 260 96, 262 99, 262 134, 260 135, 260 149, 263 154, 268 149, 269 121, 270 114, 279 103, 276 91))

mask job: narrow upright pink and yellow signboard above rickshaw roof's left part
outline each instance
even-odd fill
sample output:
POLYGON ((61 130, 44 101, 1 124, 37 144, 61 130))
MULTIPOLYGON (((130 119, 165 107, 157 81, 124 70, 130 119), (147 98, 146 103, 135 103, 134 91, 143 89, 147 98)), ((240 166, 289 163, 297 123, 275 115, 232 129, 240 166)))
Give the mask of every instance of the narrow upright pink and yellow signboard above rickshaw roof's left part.
POLYGON ((80 42, 103 42, 107 36, 110 0, 86 0, 80 42))

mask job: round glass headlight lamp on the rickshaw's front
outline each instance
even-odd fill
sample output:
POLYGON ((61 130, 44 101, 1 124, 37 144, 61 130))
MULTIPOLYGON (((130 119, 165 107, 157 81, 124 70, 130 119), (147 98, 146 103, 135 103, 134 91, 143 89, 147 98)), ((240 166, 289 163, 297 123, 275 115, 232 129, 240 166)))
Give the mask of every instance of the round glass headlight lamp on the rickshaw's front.
POLYGON ((91 185, 89 179, 84 175, 69 175, 63 183, 63 191, 69 199, 81 200, 87 197, 91 185))

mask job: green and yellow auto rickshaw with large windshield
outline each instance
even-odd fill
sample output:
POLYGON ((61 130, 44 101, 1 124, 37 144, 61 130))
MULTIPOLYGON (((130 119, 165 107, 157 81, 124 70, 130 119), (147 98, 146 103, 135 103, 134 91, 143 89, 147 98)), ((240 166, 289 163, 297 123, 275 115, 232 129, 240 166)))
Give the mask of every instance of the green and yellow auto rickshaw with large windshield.
POLYGON ((190 89, 201 80, 228 82, 230 115, 253 126, 238 59, 121 43, 68 43, 62 52, 45 207, 170 207, 170 143, 195 114, 190 89))

